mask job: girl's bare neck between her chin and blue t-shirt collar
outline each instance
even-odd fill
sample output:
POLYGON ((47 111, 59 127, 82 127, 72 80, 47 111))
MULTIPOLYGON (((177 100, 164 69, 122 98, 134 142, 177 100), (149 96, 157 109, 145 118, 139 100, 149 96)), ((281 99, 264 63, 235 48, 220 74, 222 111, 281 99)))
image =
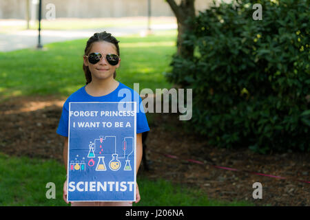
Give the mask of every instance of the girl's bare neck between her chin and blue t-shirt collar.
POLYGON ((114 78, 109 80, 92 80, 85 86, 87 94, 90 96, 105 96, 118 87, 118 81, 114 78))

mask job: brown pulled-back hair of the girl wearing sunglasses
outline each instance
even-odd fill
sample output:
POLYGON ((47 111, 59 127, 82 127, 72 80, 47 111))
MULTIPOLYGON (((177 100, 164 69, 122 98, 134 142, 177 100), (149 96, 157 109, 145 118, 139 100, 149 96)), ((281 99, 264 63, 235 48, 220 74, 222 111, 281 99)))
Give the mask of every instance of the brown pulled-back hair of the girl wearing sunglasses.
MULTIPOLYGON (((85 47, 84 54, 87 55, 90 52, 90 48, 92 47, 92 43, 97 42, 97 41, 107 41, 109 43, 113 43, 116 47, 117 55, 119 55, 119 47, 118 47, 118 42, 114 36, 112 36, 110 33, 107 32, 100 32, 100 33, 94 33, 93 36, 88 39, 85 47)), ((92 82, 92 74, 90 73, 90 69, 86 67, 83 63, 83 71, 85 74, 86 78, 86 85, 90 82, 92 82)), ((113 78, 116 78, 116 71, 113 74, 113 78)))

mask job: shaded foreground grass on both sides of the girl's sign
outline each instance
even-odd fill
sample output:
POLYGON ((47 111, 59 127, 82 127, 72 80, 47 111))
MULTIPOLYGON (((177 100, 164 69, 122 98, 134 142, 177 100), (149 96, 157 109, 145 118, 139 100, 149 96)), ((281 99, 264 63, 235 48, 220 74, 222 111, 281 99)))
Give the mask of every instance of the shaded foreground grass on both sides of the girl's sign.
MULTIPOLYGON (((52 159, 11 157, 0 153, 0 206, 70 206, 62 199, 65 168, 52 159), (48 182, 56 199, 47 199, 48 182)), ((141 201, 134 206, 251 206, 247 202, 209 200, 203 192, 159 179, 137 177, 141 201)))

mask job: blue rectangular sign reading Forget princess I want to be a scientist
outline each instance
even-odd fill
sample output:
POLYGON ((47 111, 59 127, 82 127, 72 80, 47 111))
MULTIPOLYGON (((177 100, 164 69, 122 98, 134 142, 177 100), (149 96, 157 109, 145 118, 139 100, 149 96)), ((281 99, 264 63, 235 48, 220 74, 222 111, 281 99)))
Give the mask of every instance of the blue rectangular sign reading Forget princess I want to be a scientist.
POLYGON ((70 102, 68 201, 136 200, 136 102, 70 102))

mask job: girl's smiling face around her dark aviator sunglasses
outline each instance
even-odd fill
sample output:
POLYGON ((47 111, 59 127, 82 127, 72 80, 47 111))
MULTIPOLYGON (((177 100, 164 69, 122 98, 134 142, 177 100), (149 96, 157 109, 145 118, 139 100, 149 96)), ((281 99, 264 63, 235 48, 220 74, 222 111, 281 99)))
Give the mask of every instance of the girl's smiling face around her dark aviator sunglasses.
POLYGON ((106 54, 117 54, 116 47, 113 43, 107 41, 96 41, 92 43, 90 52, 86 55, 89 55, 94 52, 99 52, 103 55, 101 61, 96 64, 92 64, 88 61, 88 58, 84 56, 84 65, 90 69, 92 73, 92 80, 105 80, 107 78, 113 78, 115 69, 119 67, 121 63, 121 58, 118 61, 118 64, 113 66, 110 63, 107 63, 105 58, 106 54))

